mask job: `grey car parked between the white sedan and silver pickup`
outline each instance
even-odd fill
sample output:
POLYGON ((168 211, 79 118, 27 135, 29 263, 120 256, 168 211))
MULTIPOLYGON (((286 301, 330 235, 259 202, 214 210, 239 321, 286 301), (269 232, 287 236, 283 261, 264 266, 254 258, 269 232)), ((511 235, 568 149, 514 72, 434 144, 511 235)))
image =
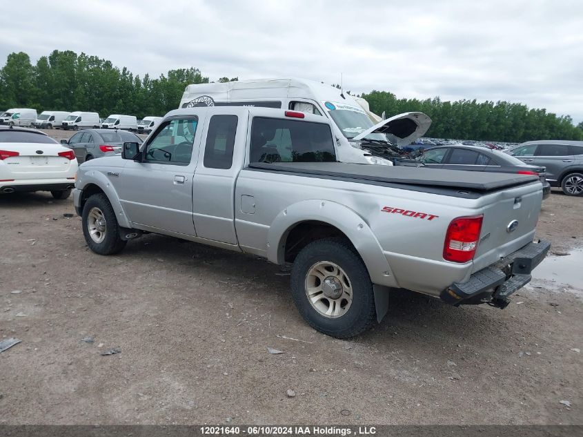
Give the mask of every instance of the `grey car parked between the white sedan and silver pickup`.
POLYGON ((79 164, 101 156, 119 155, 124 142, 141 144, 142 140, 126 130, 112 129, 86 129, 70 139, 61 139, 63 146, 73 149, 79 164))

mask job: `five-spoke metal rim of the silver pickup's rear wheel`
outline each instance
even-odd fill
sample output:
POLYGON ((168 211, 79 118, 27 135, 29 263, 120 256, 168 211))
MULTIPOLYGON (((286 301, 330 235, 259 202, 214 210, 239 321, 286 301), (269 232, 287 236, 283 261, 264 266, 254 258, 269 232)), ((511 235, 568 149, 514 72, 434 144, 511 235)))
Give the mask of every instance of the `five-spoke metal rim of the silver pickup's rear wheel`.
POLYGON ((306 298, 320 315, 342 317, 353 302, 350 278, 338 264, 320 261, 310 267, 305 281, 306 298))

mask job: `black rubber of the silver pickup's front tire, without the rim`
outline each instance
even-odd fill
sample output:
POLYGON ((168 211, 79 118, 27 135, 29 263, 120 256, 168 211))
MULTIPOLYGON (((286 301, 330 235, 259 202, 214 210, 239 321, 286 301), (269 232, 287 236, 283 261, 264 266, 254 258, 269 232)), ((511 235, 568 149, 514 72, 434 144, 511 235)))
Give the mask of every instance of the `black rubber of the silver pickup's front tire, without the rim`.
POLYGON ((83 226, 83 235, 85 236, 85 241, 89 249, 95 253, 99 253, 99 255, 113 255, 126 246, 126 240, 121 240, 119 237, 119 224, 117 224, 115 211, 113 211, 107 196, 103 193, 94 194, 85 202, 83 214, 81 215, 81 224, 83 226), (89 231, 89 215, 94 211, 94 208, 101 211, 105 219, 105 231, 103 231, 104 235, 101 242, 93 240, 89 231))

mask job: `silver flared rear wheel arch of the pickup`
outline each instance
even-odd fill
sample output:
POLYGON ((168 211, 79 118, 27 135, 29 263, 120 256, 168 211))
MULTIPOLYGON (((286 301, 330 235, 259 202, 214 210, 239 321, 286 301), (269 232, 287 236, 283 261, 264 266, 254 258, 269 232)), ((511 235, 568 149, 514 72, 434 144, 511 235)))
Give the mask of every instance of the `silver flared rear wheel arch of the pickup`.
POLYGON ((304 200, 281 211, 269 228, 268 260, 284 264, 288 234, 297 224, 308 221, 324 222, 342 231, 364 261, 373 284, 397 287, 393 271, 366 221, 347 206, 329 200, 304 200))

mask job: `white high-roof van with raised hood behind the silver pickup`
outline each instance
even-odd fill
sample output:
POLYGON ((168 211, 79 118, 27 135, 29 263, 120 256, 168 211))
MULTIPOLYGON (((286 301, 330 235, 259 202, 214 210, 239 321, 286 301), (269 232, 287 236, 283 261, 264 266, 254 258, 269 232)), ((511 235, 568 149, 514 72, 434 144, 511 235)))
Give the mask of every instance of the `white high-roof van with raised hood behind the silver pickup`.
POLYGON ((306 79, 188 85, 179 108, 195 106, 264 106, 328 117, 337 137, 339 159, 364 164, 393 165, 394 159, 404 153, 395 146, 411 144, 431 126, 431 119, 423 113, 382 120, 370 112, 366 100, 306 79))

